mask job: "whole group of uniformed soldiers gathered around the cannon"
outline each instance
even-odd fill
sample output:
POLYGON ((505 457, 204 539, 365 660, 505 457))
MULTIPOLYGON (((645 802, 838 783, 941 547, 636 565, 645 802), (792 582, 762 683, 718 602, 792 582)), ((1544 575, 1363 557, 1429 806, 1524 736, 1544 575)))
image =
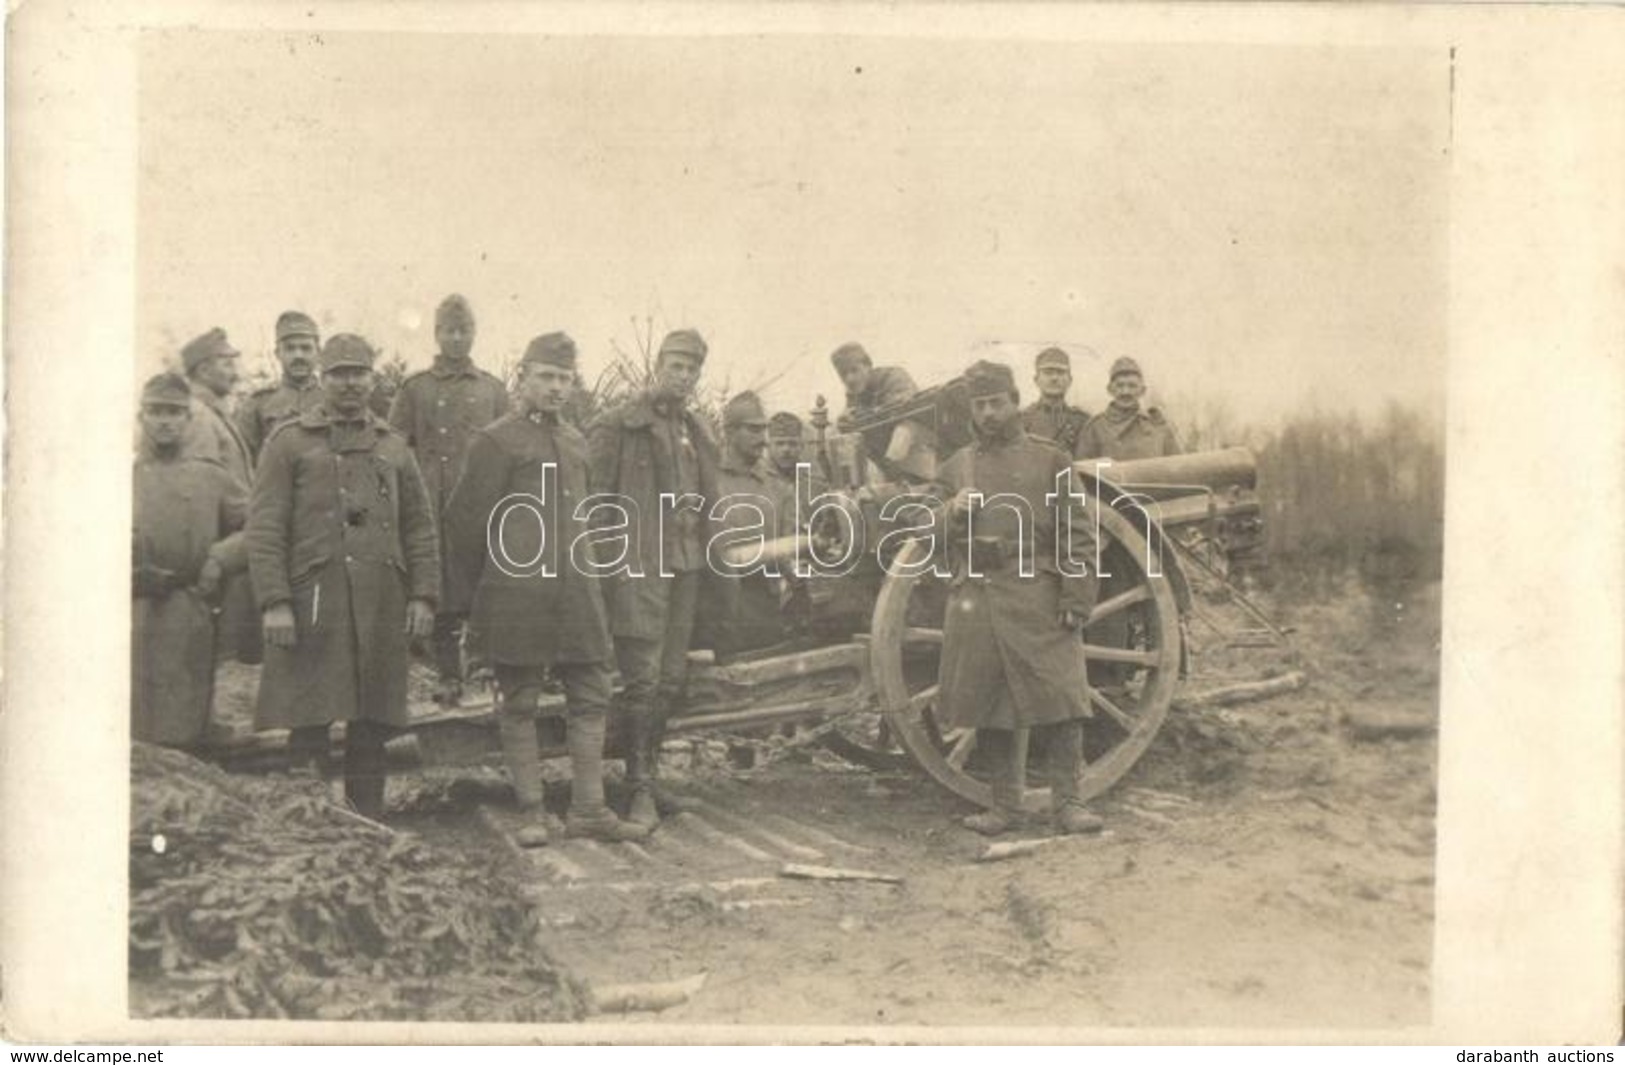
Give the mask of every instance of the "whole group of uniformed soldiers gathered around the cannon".
MULTIPOLYGON (((236 415, 239 353, 218 328, 182 348, 184 372, 145 384, 132 733, 200 743, 218 659, 263 662, 255 727, 289 730, 294 763, 325 772, 330 727, 343 722, 344 793, 358 813, 379 818, 385 741, 408 725, 410 655, 427 646, 444 704, 460 701, 466 660, 489 668, 523 808, 541 808, 536 715, 562 688, 572 772, 562 831, 639 839, 670 811, 658 754, 686 698, 691 647, 699 641, 723 657, 782 632, 785 600, 772 582, 712 579, 707 550, 718 520, 705 501, 743 493, 788 502, 824 481, 808 478, 801 419, 769 416, 751 392, 728 402, 715 437, 692 406, 708 353, 696 330, 668 333, 648 385, 600 411, 585 433, 569 415, 578 387, 569 335, 533 338, 512 390, 473 363, 474 335, 468 301, 442 301, 434 363, 401 384, 387 419, 372 408, 377 351, 351 333, 323 343, 297 311, 276 320, 281 380, 245 397, 236 415), (634 525, 626 543, 635 558, 601 577, 561 558, 595 532, 596 511, 582 506, 588 496, 626 501, 619 514, 634 525), (533 520, 499 520, 512 499, 525 499, 533 520), (673 499, 699 506, 673 509, 673 499), (540 566, 520 572, 494 558, 492 528, 502 556, 540 566), (720 605, 702 611, 702 598, 720 605), (708 631, 697 636, 700 613, 708 631), (627 732, 624 816, 603 789, 613 706, 627 732)), ((843 424, 915 392, 907 372, 873 366, 858 345, 838 348, 832 363, 847 387, 843 424)), ((1032 558, 1045 559, 1058 530, 1069 530, 1061 535, 1082 537, 1076 546, 1092 558, 1090 522, 1053 520, 1056 507, 1071 506, 1055 499, 1055 478, 1074 459, 1178 449, 1162 416, 1139 406, 1144 384, 1129 359, 1113 364, 1112 406, 1095 418, 1066 403, 1069 359, 1058 348, 1037 358, 1040 398, 1025 410, 1008 366, 977 363, 964 380, 975 442, 933 470, 954 493, 942 520, 965 522, 975 491, 1016 491, 1048 515, 1030 527, 994 520, 978 528, 986 533, 978 545, 1025 537, 1032 558)), ((884 475, 918 459, 925 437, 904 421, 873 441, 864 434, 863 446, 884 475)), ((796 512, 780 509, 780 520, 796 512)), ((944 631, 942 714, 986 730, 990 751, 1014 751, 1011 730, 1034 728, 1063 780, 1056 826, 1097 828, 1076 785, 1064 784, 1077 779, 1081 722, 1090 714, 1077 683, 1079 634, 1095 579, 968 561, 956 561, 964 572, 944 631)), ((977 831, 1019 819, 1019 767, 999 763, 994 774, 994 808, 967 819, 977 831)))

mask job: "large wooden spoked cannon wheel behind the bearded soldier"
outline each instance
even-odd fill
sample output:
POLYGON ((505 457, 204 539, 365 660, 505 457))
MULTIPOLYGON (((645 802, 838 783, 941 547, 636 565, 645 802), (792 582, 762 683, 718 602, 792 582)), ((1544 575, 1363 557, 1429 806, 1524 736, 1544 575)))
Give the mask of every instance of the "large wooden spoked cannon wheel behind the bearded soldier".
MULTIPOLYGON (((1173 566, 1162 545, 1157 559, 1134 522, 1100 509, 1103 540, 1100 600, 1084 636, 1095 717, 1086 728, 1084 798, 1100 795, 1139 761, 1173 702, 1180 683, 1178 600, 1162 566, 1173 566)), ((874 603, 869 668, 876 698, 908 756, 934 780, 973 803, 990 805, 988 766, 977 756, 972 728, 946 728, 936 717, 942 616, 949 589, 930 572, 904 576, 928 551, 916 540, 897 553, 874 603)), ((1017 732, 1017 745, 1025 746, 1017 732)), ((1048 782, 1037 751, 1030 756, 1024 805, 1042 810, 1048 782)))

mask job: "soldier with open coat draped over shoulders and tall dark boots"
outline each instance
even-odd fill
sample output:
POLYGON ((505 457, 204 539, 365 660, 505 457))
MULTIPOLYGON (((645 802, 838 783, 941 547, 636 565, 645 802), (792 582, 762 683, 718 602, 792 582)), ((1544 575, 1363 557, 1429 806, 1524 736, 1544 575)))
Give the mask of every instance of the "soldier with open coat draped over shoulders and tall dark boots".
POLYGON ((705 509, 717 494, 717 442, 689 397, 705 366, 692 328, 666 333, 650 387, 587 431, 592 486, 630 504, 627 569, 609 580, 609 631, 621 667, 629 818, 660 819, 655 777, 666 717, 686 698, 687 652, 705 569, 705 509))

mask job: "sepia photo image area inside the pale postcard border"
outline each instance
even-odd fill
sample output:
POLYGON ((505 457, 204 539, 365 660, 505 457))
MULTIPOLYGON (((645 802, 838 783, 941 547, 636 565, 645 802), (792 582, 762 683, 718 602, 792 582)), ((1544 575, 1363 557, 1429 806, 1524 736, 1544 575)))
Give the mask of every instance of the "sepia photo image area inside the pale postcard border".
POLYGON ((297 15, 124 31, 130 1021, 1425 1039, 1454 47, 297 15))

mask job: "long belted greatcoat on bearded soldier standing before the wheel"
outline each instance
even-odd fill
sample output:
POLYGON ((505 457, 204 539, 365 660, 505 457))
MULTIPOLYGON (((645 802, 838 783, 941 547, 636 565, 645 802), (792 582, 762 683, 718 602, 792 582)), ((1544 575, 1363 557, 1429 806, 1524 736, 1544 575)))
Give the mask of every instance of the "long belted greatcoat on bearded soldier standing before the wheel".
MULTIPOLYGON (((1056 566, 1056 535, 1064 506, 1071 512, 1071 554, 1090 567, 1095 559, 1094 514, 1076 502, 1051 504, 1056 475, 1071 462, 1053 444, 1019 428, 1009 439, 982 441, 960 449, 942 467, 951 493, 972 488, 994 496, 1011 493, 1027 501, 1032 520, 1019 522, 1008 506, 990 502, 972 520, 975 537, 998 537, 1008 564, 977 559, 980 576, 967 572, 965 522, 947 527, 954 561, 954 590, 942 626, 941 706, 949 725, 972 728, 1030 728, 1089 717, 1084 646, 1063 628, 1060 615, 1087 615, 1095 577, 1063 576, 1056 566), (1032 577, 1022 577, 1016 554, 1025 541, 1032 577)), ((991 553, 990 553, 991 554, 991 553)))

